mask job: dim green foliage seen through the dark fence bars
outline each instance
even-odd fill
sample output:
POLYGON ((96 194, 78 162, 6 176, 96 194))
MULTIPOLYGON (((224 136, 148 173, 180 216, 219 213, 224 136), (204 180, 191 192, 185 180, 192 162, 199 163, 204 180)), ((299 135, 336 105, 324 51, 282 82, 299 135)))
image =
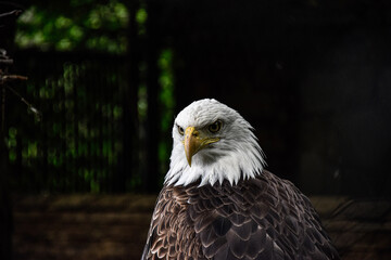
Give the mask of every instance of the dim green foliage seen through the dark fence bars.
POLYGON ((110 179, 123 155, 122 66, 114 63, 102 70, 93 62, 64 63, 60 74, 33 76, 26 94, 41 103, 43 120, 29 126, 31 132, 10 127, 7 140, 10 164, 20 160, 24 172, 31 172, 17 186, 28 191, 42 180, 40 185, 49 192, 111 191, 110 179), (86 80, 97 75, 103 84, 93 88, 103 95, 90 91, 86 80))

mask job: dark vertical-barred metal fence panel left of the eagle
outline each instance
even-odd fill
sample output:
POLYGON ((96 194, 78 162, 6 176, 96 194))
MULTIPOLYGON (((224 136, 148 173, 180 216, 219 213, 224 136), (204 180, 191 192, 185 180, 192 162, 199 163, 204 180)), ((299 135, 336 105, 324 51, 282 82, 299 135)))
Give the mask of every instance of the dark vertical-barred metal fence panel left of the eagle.
POLYGON ((28 81, 13 88, 38 113, 7 95, 11 185, 50 193, 142 188, 138 86, 129 81, 128 58, 20 52, 15 60, 28 81))

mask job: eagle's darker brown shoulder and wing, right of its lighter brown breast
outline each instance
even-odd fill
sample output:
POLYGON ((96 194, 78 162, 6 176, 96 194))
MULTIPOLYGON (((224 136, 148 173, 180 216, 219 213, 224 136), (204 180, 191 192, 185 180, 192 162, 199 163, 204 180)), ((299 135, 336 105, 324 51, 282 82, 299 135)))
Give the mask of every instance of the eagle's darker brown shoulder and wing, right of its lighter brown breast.
POLYGON ((198 193, 188 211, 206 259, 339 259, 310 199, 270 172, 198 193))

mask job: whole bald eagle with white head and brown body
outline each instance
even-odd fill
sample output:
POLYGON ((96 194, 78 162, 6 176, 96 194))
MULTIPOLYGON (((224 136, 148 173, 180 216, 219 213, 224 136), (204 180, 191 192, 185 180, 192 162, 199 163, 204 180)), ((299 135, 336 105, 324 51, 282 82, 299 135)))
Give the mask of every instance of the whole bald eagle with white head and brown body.
POLYGON ((141 259, 339 259, 310 199, 264 170, 253 128, 235 109, 193 102, 173 139, 141 259))

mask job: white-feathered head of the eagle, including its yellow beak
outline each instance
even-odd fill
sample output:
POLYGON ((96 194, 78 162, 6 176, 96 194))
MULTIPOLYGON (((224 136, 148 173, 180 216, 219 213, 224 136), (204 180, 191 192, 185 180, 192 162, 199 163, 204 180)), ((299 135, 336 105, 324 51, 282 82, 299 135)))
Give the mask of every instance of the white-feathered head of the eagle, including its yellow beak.
POLYGON ((265 165, 251 125, 213 99, 184 108, 175 119, 173 139, 166 184, 234 184, 261 173, 265 165))

